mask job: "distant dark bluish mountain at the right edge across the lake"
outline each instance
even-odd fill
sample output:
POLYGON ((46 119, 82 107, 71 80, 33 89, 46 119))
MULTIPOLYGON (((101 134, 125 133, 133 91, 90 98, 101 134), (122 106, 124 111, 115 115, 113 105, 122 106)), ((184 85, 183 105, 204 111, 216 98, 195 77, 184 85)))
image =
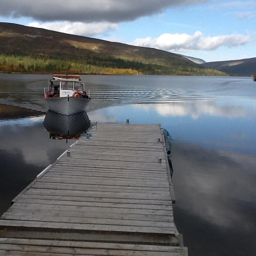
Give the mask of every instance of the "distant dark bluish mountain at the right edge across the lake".
POLYGON ((256 58, 207 62, 201 65, 220 70, 232 76, 251 76, 256 74, 256 58))

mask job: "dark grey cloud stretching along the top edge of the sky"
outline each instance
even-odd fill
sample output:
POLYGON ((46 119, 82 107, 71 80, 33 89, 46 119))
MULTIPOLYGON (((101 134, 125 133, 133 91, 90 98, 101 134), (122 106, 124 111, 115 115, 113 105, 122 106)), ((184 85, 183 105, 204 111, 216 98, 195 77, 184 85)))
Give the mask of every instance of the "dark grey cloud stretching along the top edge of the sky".
POLYGON ((161 14, 167 8, 208 2, 209 0, 5 0, 0 15, 31 17, 40 21, 94 22, 131 21, 161 14))

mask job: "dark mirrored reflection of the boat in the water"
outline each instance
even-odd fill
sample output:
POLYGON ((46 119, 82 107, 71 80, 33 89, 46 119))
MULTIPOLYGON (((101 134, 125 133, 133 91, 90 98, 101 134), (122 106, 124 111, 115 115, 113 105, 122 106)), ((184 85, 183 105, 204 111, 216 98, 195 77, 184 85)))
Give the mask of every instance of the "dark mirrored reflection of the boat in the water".
POLYGON ((78 139, 83 132, 89 129, 91 121, 86 112, 64 115, 49 110, 43 124, 50 138, 68 140, 78 139))

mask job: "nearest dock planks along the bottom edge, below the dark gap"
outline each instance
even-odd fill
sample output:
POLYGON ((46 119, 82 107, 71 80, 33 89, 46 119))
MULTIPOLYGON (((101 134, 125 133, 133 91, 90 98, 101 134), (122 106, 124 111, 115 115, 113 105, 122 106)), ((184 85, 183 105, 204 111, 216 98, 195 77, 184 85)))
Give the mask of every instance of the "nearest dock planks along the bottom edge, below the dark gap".
POLYGON ((130 245, 114 243, 0 239, 1 255, 110 255, 110 256, 185 256, 187 249, 176 246, 130 245), (40 254, 37 254, 40 253, 40 254))

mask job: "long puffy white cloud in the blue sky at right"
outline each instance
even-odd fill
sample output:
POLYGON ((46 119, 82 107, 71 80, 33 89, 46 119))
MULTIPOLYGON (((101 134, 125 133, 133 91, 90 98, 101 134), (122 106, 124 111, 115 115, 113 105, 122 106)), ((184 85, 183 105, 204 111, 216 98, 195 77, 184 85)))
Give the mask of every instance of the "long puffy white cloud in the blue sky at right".
POLYGON ((196 31, 193 35, 183 34, 161 34, 157 38, 137 38, 131 44, 157 48, 166 51, 182 50, 215 50, 220 46, 235 47, 249 42, 250 37, 242 34, 230 34, 223 36, 204 37, 202 32, 196 31))

